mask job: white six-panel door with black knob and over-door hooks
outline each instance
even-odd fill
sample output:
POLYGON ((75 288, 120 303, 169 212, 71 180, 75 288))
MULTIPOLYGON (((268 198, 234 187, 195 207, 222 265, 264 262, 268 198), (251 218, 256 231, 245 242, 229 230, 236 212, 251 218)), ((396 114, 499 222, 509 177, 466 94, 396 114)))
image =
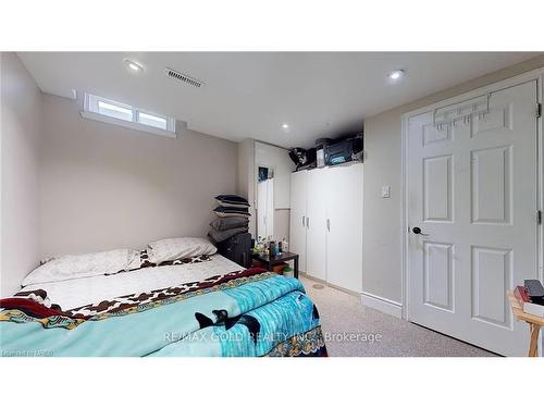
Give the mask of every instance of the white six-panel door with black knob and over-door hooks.
POLYGON ((537 277, 535 107, 532 81, 408 123, 409 319, 507 356, 529 343, 505 292, 537 277))

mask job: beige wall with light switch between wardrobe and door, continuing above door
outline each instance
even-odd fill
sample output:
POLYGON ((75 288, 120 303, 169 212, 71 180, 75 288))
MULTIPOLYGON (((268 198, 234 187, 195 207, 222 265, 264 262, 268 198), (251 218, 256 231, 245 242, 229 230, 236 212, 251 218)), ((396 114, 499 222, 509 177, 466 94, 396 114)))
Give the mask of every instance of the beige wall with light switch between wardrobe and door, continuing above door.
POLYGON ((401 114, 541 66, 544 55, 364 121, 362 283, 366 293, 401 301, 401 114), (381 198, 381 187, 385 185, 391 186, 391 198, 381 198))

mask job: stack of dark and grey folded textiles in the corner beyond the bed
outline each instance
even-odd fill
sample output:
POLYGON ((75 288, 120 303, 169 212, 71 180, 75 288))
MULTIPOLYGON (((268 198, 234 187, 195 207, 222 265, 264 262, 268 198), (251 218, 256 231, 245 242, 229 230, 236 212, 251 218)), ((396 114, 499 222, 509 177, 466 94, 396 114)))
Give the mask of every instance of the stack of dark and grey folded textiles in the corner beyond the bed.
POLYGON ((249 202, 246 198, 234 194, 217 196, 219 206, 213 212, 218 218, 210 223, 208 235, 221 243, 237 234, 245 234, 249 230, 249 202))

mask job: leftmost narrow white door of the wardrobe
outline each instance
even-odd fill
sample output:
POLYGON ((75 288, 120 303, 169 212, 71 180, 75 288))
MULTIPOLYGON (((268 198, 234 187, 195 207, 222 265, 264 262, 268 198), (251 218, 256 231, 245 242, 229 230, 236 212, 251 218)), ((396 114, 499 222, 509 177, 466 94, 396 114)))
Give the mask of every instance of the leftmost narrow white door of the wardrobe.
POLYGON ((289 251, 298 254, 298 268, 302 272, 306 272, 307 174, 305 170, 290 175, 289 251))

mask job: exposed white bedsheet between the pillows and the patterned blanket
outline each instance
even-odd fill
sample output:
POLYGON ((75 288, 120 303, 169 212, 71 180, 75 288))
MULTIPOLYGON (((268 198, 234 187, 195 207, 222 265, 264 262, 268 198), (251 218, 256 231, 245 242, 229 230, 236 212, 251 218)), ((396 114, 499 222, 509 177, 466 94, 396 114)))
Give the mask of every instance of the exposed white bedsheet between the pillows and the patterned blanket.
POLYGON ((109 276, 99 275, 28 285, 23 290, 44 289, 51 304, 57 304, 63 310, 69 310, 118 296, 201 281, 213 275, 245 269, 221 255, 213 255, 211 258, 211 261, 206 262, 144 268, 109 276))

